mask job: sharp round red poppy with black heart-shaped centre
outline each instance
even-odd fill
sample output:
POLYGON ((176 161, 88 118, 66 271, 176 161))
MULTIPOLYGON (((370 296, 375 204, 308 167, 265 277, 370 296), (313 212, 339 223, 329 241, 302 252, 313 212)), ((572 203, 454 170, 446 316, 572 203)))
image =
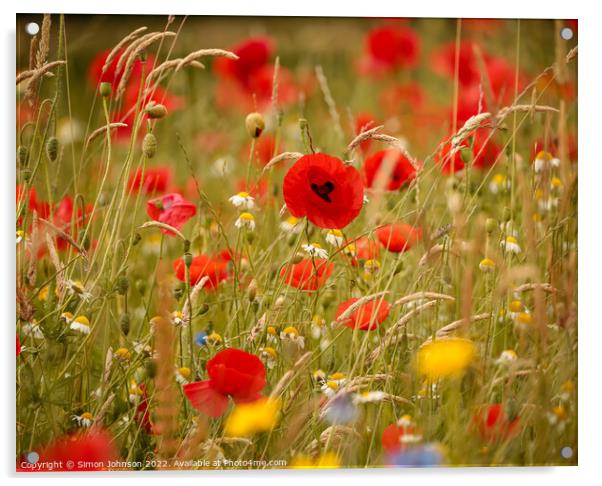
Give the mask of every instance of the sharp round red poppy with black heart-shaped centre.
POLYGON ((283 192, 293 216, 307 216, 327 229, 351 223, 364 201, 364 184, 357 169, 321 153, 304 155, 288 170, 283 192))

